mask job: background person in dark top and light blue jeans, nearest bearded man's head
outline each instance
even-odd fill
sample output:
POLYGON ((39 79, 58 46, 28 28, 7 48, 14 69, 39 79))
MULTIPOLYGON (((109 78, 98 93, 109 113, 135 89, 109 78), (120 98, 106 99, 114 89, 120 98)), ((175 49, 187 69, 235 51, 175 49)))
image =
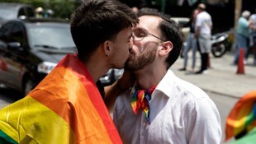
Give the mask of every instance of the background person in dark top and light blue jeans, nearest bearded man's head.
POLYGON ((190 28, 189 34, 187 35, 187 40, 186 40, 186 46, 183 49, 183 67, 179 69, 179 71, 186 71, 187 70, 187 53, 189 52, 190 49, 192 49, 192 72, 194 72, 194 68, 196 67, 196 53, 197 53, 197 39, 195 39, 195 22, 196 22, 196 17, 198 14, 198 10, 194 10, 192 12, 192 16, 190 17, 190 20, 187 22, 187 25, 190 28))

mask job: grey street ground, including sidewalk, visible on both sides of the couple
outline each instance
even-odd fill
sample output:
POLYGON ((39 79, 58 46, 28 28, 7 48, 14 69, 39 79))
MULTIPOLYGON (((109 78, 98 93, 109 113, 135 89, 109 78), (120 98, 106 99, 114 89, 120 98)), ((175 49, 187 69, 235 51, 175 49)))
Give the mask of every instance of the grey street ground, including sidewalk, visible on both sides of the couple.
MULTIPOLYGON (((191 54, 191 53, 189 53, 191 54)), ((249 58, 249 64, 244 66, 245 74, 236 74, 237 66, 230 63, 233 60, 232 53, 226 53, 222 58, 213 58, 211 55, 211 68, 206 74, 195 75, 190 71, 191 55, 188 59, 188 72, 180 72, 178 68, 183 67, 183 58, 171 67, 173 72, 183 80, 189 81, 199 87, 211 97, 220 112, 221 127, 223 131, 222 143, 225 137, 225 118, 230 113, 235 102, 249 91, 255 91, 256 88, 256 67, 252 66, 253 58, 249 58)), ((200 67, 200 54, 197 53, 197 70, 200 67)), ((21 94, 17 91, 0 88, 0 109, 5 105, 19 100, 21 94)))

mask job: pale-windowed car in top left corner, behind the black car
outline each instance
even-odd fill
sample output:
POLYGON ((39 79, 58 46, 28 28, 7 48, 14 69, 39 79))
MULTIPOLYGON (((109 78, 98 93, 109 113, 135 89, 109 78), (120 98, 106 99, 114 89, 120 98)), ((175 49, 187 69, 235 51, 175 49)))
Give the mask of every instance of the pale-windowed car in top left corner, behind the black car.
POLYGON ((36 17, 35 8, 28 4, 0 2, 0 26, 8 20, 36 17))

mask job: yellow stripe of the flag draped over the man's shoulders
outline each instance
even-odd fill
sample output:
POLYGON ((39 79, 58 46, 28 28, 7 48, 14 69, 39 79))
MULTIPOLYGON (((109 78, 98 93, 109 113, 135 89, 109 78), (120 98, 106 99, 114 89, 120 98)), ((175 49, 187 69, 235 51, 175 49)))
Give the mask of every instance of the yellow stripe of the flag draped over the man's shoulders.
POLYGON ((0 110, 0 129, 18 143, 75 143, 64 119, 29 96, 0 110))

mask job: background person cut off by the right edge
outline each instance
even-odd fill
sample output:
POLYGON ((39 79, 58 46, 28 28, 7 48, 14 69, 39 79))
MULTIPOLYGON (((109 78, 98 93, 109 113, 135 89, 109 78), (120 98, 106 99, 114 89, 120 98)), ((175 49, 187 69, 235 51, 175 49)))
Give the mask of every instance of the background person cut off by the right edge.
MULTIPOLYGON (((256 12, 256 10, 255 10, 256 12)), ((254 53, 254 66, 256 66, 256 13, 249 16, 249 49, 246 52, 246 60, 250 53, 254 53)))

